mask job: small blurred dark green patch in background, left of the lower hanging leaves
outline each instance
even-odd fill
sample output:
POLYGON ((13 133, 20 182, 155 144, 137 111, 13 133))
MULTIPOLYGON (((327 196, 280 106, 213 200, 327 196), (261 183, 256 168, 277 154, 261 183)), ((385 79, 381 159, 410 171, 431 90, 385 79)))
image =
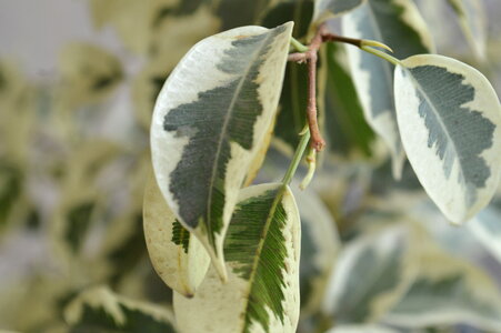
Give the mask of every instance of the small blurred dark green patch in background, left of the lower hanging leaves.
POLYGON ((83 202, 71 208, 66 215, 66 239, 73 253, 82 245, 90 226, 90 219, 94 210, 93 202, 83 202))

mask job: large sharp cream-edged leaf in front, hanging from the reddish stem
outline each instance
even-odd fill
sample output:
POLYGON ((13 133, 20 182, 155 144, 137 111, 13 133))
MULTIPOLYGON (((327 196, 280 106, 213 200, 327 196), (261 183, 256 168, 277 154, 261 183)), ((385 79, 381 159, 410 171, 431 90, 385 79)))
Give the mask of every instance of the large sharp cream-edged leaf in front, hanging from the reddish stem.
POLYGON ((226 230, 274 117, 291 31, 292 23, 243 27, 202 40, 157 100, 151 127, 157 182, 223 279, 226 230))

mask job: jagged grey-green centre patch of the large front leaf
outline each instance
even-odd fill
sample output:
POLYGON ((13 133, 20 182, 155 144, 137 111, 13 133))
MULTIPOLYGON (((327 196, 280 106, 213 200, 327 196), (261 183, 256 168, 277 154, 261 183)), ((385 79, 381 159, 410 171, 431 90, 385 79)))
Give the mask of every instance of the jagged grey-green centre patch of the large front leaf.
POLYGON ((170 174, 179 214, 191 228, 203 221, 211 243, 223 223, 230 142, 246 150, 252 148, 253 125, 262 112, 257 79, 264 56, 284 30, 285 27, 278 27, 233 41, 218 68, 236 79, 200 92, 197 101, 177 107, 164 118, 166 131, 190 139, 170 174))

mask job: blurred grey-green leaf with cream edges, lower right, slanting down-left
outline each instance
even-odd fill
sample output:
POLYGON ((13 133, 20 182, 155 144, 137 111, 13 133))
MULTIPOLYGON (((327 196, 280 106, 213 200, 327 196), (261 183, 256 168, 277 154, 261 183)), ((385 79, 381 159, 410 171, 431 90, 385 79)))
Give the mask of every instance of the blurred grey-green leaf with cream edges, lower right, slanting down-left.
POLYGON ((415 274, 403 228, 385 229, 349 244, 338 260, 323 310, 338 323, 379 320, 402 296, 415 274))

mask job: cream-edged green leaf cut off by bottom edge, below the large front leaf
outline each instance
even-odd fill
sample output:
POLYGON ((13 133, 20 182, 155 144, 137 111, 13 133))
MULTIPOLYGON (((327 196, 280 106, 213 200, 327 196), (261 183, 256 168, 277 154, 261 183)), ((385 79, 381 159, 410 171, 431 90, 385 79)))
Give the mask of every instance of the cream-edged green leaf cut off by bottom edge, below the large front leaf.
POLYGON ((174 294, 182 332, 295 332, 300 221, 282 184, 246 188, 224 242, 228 282, 213 269, 192 299, 174 294), (197 317, 193 317, 197 314, 197 317))

